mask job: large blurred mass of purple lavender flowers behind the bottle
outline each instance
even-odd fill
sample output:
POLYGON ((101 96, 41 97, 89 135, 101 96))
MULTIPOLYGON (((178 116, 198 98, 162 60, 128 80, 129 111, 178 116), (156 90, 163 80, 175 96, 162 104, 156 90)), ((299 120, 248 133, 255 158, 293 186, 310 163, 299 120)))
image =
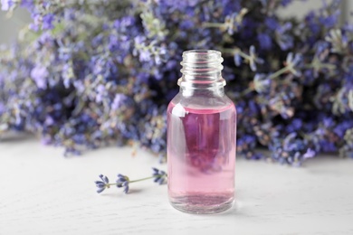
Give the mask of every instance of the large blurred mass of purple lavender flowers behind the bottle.
POLYGON ((339 25, 339 1, 301 21, 277 15, 291 0, 1 3, 27 8, 33 23, 0 50, 0 133, 35 133, 65 155, 135 143, 165 155, 181 54, 215 49, 237 106, 238 154, 353 157, 353 26, 339 25))

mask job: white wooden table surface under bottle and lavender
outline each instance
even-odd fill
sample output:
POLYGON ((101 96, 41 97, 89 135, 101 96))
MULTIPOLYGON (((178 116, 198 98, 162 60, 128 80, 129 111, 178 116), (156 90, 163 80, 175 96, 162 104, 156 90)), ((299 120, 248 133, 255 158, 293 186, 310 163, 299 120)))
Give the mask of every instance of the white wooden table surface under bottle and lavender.
POLYGON ((63 157, 38 140, 0 142, 0 234, 353 234, 353 160, 320 156, 294 168, 237 159, 236 203, 216 215, 173 209, 152 181, 96 193, 115 180, 166 170, 144 150, 109 147, 63 157))

